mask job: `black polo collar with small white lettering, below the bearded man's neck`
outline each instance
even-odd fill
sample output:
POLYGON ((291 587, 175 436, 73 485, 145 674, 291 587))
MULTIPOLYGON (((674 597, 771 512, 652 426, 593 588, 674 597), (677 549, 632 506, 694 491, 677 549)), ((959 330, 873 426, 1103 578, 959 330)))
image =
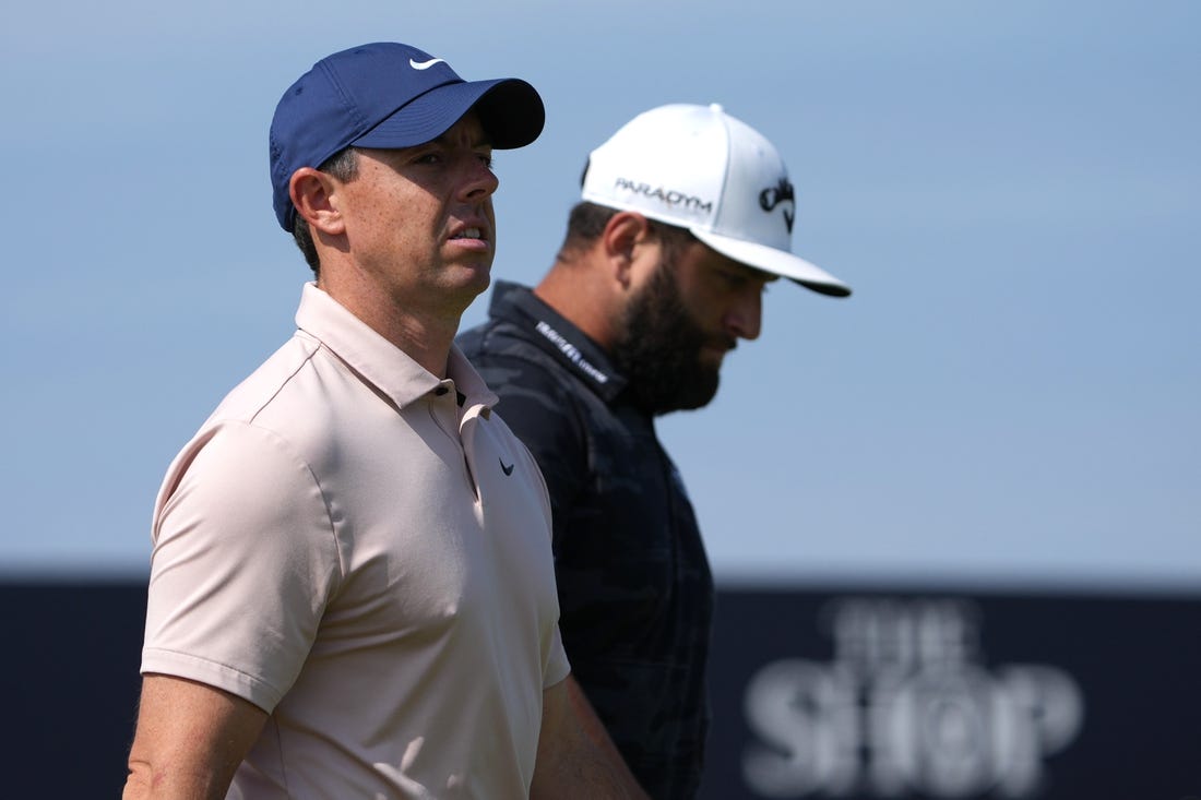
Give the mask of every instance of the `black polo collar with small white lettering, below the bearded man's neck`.
POLYGON ((527 332, 530 340, 550 353, 563 368, 576 375, 605 402, 611 402, 626 387, 626 378, 586 333, 543 303, 525 286, 496 281, 489 315, 527 332))

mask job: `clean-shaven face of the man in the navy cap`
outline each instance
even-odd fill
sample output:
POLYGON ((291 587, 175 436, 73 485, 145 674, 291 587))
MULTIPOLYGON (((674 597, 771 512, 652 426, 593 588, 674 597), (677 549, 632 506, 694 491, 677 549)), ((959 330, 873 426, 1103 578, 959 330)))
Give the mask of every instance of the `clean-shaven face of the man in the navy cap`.
POLYGON ((341 211, 362 277, 410 308, 461 311, 488 288, 498 185, 491 155, 473 112, 432 142, 360 150, 357 175, 341 187, 341 211))

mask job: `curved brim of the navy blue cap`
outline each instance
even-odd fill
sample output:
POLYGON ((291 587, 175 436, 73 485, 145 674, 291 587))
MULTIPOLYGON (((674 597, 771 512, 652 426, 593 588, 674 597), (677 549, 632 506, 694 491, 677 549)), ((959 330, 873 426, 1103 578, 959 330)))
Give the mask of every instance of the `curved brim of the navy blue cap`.
POLYGON ((426 91, 384 118, 352 144, 411 148, 446 133, 472 108, 490 144, 500 150, 530 144, 542 133, 546 112, 537 90, 519 78, 448 83, 426 91))

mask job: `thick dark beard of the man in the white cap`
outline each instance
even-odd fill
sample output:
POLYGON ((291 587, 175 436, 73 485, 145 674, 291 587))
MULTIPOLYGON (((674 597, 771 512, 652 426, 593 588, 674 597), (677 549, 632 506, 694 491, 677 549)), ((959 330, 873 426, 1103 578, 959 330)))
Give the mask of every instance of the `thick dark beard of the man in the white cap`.
POLYGON ((730 335, 707 334, 680 297, 673 263, 661 263, 631 298, 613 345, 614 366, 628 381, 631 401, 653 416, 700 408, 717 394, 719 363, 701 360, 701 348, 733 350, 730 335))

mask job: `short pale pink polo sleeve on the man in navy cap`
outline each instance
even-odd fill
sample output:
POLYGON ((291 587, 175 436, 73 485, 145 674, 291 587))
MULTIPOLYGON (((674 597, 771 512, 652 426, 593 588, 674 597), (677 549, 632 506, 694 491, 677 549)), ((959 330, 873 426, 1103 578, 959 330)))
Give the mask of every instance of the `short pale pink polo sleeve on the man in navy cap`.
POLYGON ((270 712, 341 575, 321 486, 286 441, 243 422, 177 458, 155 512, 142 671, 270 712))

